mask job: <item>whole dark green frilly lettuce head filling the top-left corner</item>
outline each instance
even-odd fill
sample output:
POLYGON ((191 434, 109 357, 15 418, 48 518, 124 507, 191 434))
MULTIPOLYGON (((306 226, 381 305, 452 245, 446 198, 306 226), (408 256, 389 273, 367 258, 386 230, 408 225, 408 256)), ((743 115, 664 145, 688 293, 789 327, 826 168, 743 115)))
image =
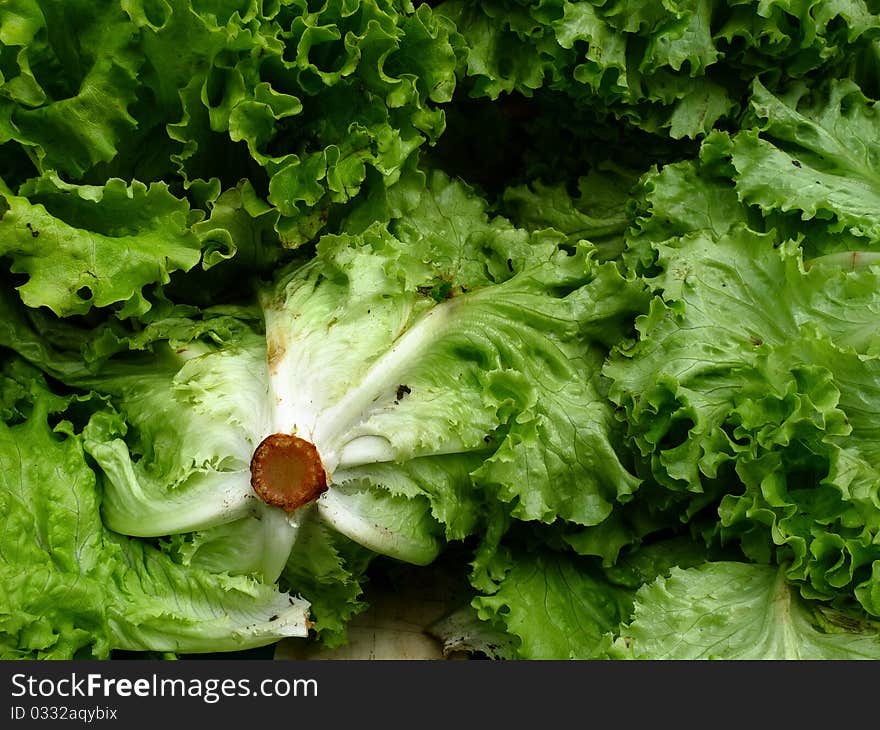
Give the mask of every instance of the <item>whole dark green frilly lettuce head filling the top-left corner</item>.
POLYGON ((8 185, 161 181, 208 214, 244 176, 289 247, 437 140, 459 42, 428 4, 390 0, 29 0, 0 38, 8 185))

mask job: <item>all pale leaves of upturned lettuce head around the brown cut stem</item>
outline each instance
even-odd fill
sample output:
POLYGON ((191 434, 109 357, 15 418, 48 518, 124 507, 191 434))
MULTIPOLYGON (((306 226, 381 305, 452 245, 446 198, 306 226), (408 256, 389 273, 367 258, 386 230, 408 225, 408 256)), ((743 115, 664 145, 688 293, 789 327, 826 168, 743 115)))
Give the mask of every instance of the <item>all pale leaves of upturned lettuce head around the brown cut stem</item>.
POLYGON ((599 369, 642 288, 442 175, 410 204, 260 284, 264 322, 163 306, 137 331, 41 333, 7 303, 6 346, 108 401, 83 432, 108 527, 184 535, 183 562, 274 580, 302 519, 251 487, 272 433, 316 444, 327 524, 416 563, 479 532, 492 500, 592 525, 630 498, 599 369))

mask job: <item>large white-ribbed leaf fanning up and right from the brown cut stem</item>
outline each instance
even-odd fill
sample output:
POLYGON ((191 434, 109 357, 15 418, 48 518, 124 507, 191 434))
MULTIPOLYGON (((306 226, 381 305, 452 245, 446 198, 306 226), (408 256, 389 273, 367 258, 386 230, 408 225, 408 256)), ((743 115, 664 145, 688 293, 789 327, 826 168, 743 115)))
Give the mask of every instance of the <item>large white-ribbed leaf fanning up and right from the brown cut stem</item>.
POLYGON ((315 443, 331 482, 476 454, 472 487, 514 516, 601 521, 638 481, 597 390, 602 349, 582 332, 637 298, 604 308, 591 285, 626 282, 561 243, 490 218, 439 174, 390 231, 325 237, 263 297, 275 430, 315 443))

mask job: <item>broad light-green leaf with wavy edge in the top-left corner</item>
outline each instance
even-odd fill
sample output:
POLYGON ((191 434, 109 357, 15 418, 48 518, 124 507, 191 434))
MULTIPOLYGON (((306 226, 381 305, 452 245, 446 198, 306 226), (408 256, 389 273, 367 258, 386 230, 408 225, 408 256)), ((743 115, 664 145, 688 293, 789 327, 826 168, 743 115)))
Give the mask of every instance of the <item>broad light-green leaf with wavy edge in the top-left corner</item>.
POLYGON ((0 10, 0 37, 0 144, 73 179, 120 153, 138 124, 141 65, 121 6, 14 2, 0 10))

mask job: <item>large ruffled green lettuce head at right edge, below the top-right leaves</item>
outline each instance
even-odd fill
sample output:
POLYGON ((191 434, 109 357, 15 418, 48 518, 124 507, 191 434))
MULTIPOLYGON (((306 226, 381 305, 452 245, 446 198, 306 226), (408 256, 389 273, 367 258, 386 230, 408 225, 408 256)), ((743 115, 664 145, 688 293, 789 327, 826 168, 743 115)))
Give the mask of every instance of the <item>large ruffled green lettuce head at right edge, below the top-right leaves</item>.
POLYGON ((604 368, 633 445, 710 534, 876 615, 877 270, 742 227, 655 249, 662 294, 604 368))

